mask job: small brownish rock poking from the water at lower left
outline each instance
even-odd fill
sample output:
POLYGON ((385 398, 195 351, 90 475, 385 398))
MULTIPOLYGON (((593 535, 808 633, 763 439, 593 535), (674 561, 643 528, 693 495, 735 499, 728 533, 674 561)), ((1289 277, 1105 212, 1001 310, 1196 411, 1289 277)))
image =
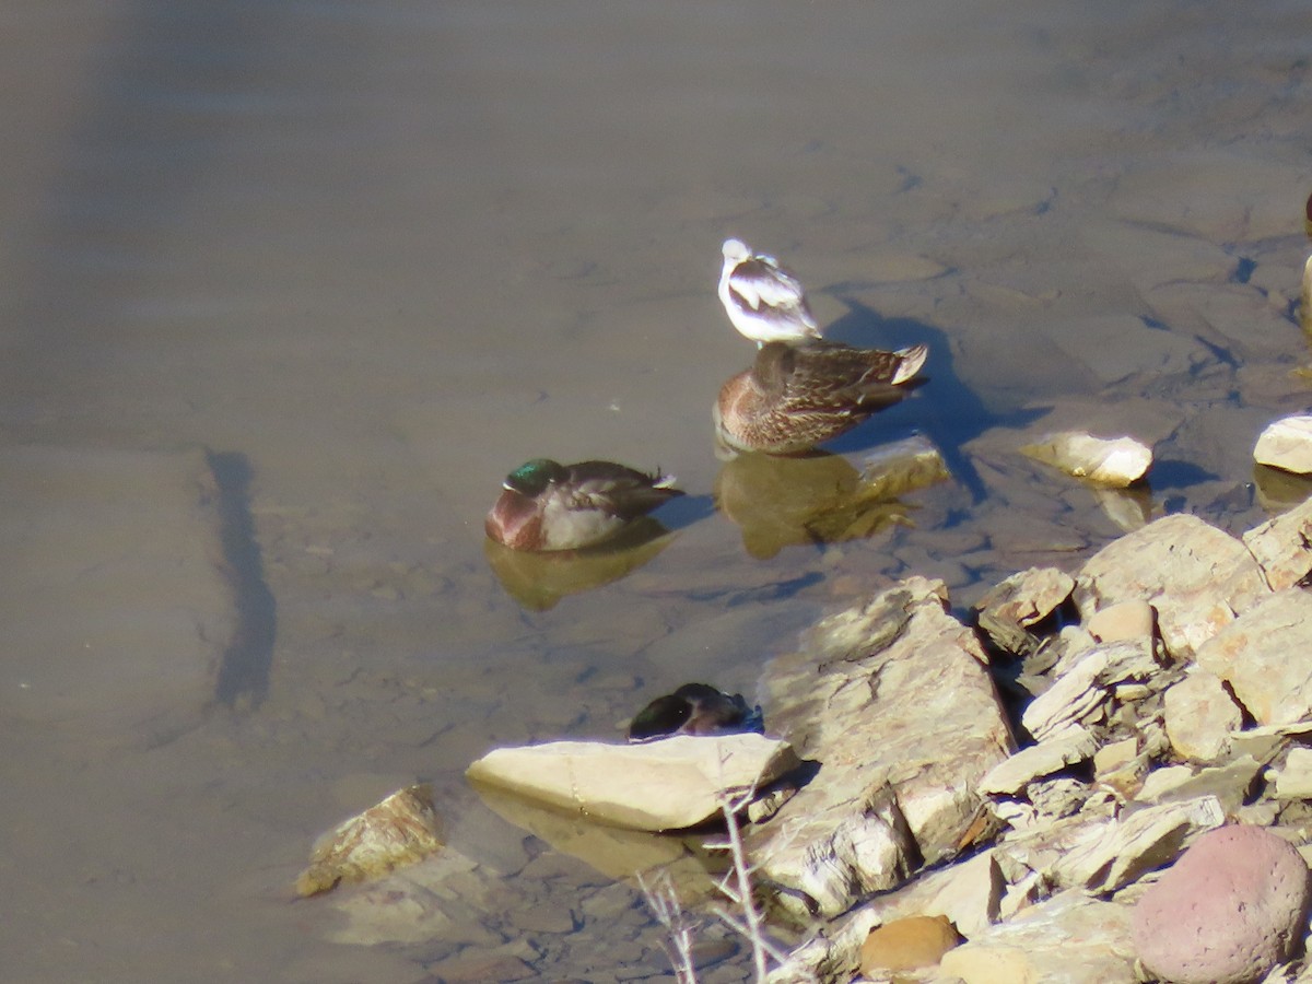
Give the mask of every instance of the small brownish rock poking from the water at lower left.
POLYGON ((365 882, 422 861, 442 848, 433 789, 408 786, 320 837, 297 893, 316 895, 341 882, 365 882))

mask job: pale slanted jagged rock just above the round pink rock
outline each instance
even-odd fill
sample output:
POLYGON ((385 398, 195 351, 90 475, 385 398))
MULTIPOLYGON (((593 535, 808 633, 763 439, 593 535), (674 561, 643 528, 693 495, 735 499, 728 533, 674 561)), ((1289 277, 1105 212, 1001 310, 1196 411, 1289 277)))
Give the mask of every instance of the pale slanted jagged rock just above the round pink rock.
POLYGON ((1113 820, 1096 840, 1052 866, 1056 884, 1114 892, 1153 869, 1169 865, 1185 841, 1225 823, 1216 796, 1145 807, 1113 820))

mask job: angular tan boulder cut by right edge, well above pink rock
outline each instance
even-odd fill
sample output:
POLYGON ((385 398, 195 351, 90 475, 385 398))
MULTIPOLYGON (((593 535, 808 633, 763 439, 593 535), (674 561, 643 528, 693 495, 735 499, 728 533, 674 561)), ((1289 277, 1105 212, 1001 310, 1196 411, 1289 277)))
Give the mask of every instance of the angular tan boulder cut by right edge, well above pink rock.
POLYGON ((1198 665, 1228 682, 1258 724, 1312 716, 1312 596, 1269 596, 1207 642, 1198 665))

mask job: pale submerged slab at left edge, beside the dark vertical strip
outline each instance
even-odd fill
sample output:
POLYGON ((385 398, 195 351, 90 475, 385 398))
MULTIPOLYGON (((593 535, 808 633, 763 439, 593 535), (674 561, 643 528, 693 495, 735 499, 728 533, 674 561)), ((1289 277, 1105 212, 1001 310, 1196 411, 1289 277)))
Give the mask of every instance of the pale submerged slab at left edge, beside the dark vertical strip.
POLYGON ((201 450, 5 450, 0 714, 101 740, 199 723, 239 619, 216 501, 201 450))

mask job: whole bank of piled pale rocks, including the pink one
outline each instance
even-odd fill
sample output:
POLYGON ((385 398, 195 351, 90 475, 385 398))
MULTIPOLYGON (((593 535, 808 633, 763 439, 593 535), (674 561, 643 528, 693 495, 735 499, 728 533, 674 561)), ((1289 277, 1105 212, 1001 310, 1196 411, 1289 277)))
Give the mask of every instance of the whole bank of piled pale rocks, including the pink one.
POLYGON ((1157 520, 1073 577, 998 585, 983 647, 922 579, 819 623, 766 673, 770 731, 821 764, 748 834, 813 932, 771 980, 861 980, 871 930, 908 917, 964 942, 899 980, 1292 980, 1273 968, 1308 934, 1309 526, 1312 501, 1242 539, 1157 520))

